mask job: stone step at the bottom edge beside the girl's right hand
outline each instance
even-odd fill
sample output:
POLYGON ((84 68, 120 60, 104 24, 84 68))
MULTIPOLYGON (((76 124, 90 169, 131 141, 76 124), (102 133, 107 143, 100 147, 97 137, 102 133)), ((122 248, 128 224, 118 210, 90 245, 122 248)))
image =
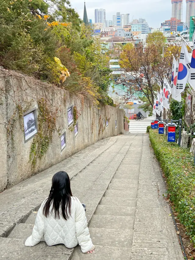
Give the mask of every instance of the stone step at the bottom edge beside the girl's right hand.
POLYGON ((130 260, 130 253, 130 248, 95 246, 94 253, 86 256, 80 248, 76 248, 72 260, 130 260))

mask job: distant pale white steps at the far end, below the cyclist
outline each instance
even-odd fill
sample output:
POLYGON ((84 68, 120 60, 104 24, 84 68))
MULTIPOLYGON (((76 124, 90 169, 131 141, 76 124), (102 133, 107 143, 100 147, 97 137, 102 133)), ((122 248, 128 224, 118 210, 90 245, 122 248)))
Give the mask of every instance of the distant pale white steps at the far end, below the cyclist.
POLYGON ((144 119, 144 120, 130 120, 129 122, 129 133, 131 134, 144 134, 146 133, 147 126, 151 125, 151 120, 144 119))

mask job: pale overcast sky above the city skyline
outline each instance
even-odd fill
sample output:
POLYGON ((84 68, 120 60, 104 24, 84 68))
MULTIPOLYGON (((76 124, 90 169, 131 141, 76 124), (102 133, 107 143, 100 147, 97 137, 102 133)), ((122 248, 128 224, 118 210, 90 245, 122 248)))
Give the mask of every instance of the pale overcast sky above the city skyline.
MULTIPOLYGON (((83 0, 70 0, 83 19, 83 0)), ((130 20, 145 18, 149 27, 158 28, 171 18, 171 0, 86 0, 87 16, 94 22, 94 9, 105 9, 106 20, 116 12, 129 13, 130 20)), ((183 0, 183 22, 186 21, 186 1, 183 0)))

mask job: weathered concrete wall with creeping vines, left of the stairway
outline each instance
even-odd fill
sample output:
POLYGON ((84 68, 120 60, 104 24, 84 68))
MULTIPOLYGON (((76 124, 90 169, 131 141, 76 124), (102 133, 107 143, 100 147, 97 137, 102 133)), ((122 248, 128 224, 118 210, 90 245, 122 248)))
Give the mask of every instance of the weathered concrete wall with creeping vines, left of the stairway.
MULTIPOLYGON (((0 69, 0 191, 55 165, 95 142, 124 133, 123 110, 108 105, 94 105, 81 95, 70 94, 61 88, 43 83, 32 77, 0 69), (46 154, 31 167, 29 158, 33 139, 24 142, 23 110, 37 107, 43 98, 56 109, 56 130, 46 154), (67 108, 76 106, 78 132, 68 127, 67 108), (103 126, 108 119, 108 126, 103 126), (117 128, 115 128, 117 120, 117 128), (61 151, 60 134, 66 131, 66 148, 61 151)), ((39 125, 39 122, 38 122, 39 125)))

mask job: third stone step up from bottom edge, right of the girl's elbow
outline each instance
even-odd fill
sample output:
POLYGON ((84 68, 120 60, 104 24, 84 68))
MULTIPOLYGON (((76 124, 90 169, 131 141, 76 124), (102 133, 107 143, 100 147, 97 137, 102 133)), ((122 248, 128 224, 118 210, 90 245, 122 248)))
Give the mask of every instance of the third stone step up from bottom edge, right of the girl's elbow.
POLYGON ((134 221, 129 216, 93 215, 89 227, 133 230, 134 221))

